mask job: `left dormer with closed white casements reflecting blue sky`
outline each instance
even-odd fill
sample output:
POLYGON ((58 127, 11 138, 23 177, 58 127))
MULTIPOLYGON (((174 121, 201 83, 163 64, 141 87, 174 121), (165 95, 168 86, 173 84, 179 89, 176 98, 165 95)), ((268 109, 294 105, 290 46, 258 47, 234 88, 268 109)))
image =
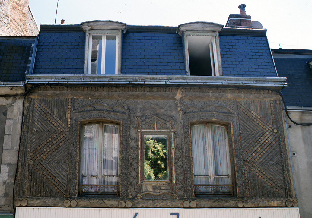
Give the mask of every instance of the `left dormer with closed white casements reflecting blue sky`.
POLYGON ((86 32, 85 74, 120 74, 121 37, 126 24, 88 21, 81 26, 86 32))

